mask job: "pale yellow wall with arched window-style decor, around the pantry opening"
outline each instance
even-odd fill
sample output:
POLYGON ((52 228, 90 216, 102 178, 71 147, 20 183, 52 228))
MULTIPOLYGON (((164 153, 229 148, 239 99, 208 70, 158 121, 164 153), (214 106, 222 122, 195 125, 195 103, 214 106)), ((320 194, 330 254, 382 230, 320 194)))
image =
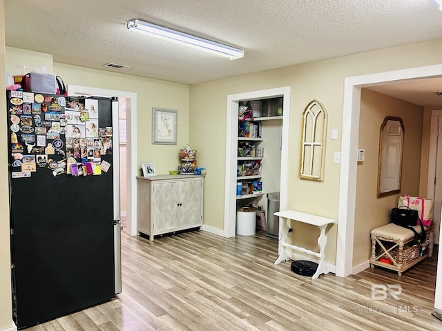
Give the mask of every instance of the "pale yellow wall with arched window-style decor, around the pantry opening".
MULTIPOLYGON (((226 151, 227 95, 291 87, 287 208, 337 219, 340 167, 333 163, 333 154, 340 151, 345 77, 433 65, 441 62, 440 54, 442 39, 437 39, 191 86, 190 142, 198 149, 198 163, 208 169, 204 182, 204 223, 219 229, 224 226, 225 164, 220 155, 226 151), (323 103, 329 114, 322 182, 298 178, 300 119, 302 110, 312 99, 323 103), (338 129, 338 140, 330 139, 332 128, 338 129)), ((372 180, 376 181, 376 177, 372 180)), ((357 200, 364 199, 365 193, 361 194, 357 200)), ((326 260, 333 264, 336 230, 337 225, 328 230, 325 251, 326 260)), ((305 231, 303 237, 316 235, 305 231)))

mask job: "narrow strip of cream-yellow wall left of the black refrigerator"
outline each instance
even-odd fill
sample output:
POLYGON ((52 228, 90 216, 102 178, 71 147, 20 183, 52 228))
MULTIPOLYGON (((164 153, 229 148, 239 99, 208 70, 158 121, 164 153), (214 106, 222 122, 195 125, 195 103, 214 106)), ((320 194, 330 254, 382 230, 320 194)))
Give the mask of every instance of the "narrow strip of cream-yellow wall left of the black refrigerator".
MULTIPOLYGON (((0 0, 0 63, 5 62, 4 3, 0 0)), ((0 77, 5 77, 5 67, 0 66, 0 77)), ((5 80, 0 79, 0 90, 5 90, 5 80)), ((6 137, 6 94, 0 93, 0 330, 12 326, 10 244, 8 208, 8 139, 6 137)))

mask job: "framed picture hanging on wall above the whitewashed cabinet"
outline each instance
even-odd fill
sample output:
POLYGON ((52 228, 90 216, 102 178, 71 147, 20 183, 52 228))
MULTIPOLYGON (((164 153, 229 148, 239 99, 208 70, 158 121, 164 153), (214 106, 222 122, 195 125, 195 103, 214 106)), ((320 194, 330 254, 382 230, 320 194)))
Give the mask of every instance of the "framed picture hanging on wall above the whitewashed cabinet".
POLYGON ((152 143, 177 144, 177 110, 152 108, 152 143))

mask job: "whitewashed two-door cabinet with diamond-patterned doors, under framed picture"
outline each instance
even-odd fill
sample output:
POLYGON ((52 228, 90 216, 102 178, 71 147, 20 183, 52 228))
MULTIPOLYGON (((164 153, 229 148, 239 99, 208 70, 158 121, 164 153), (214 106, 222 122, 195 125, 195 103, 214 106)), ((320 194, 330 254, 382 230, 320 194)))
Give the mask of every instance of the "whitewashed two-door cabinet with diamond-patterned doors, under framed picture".
POLYGON ((137 231, 152 241, 202 225, 203 179, 193 175, 137 177, 137 231))

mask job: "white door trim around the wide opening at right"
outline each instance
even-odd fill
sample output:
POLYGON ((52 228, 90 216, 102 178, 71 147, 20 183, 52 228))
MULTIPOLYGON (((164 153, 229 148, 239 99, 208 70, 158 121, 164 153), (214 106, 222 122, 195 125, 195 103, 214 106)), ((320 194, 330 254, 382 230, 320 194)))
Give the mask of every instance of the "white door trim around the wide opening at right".
MULTIPOLYGON (((347 277, 352 273, 361 88, 394 81, 441 76, 442 65, 435 65, 347 77, 345 79, 338 207, 338 245, 336 248, 337 276, 347 277)), ((442 263, 438 263, 436 272, 442 275, 442 263)), ((438 279, 437 274, 434 307, 442 309, 442 277, 438 279)))

